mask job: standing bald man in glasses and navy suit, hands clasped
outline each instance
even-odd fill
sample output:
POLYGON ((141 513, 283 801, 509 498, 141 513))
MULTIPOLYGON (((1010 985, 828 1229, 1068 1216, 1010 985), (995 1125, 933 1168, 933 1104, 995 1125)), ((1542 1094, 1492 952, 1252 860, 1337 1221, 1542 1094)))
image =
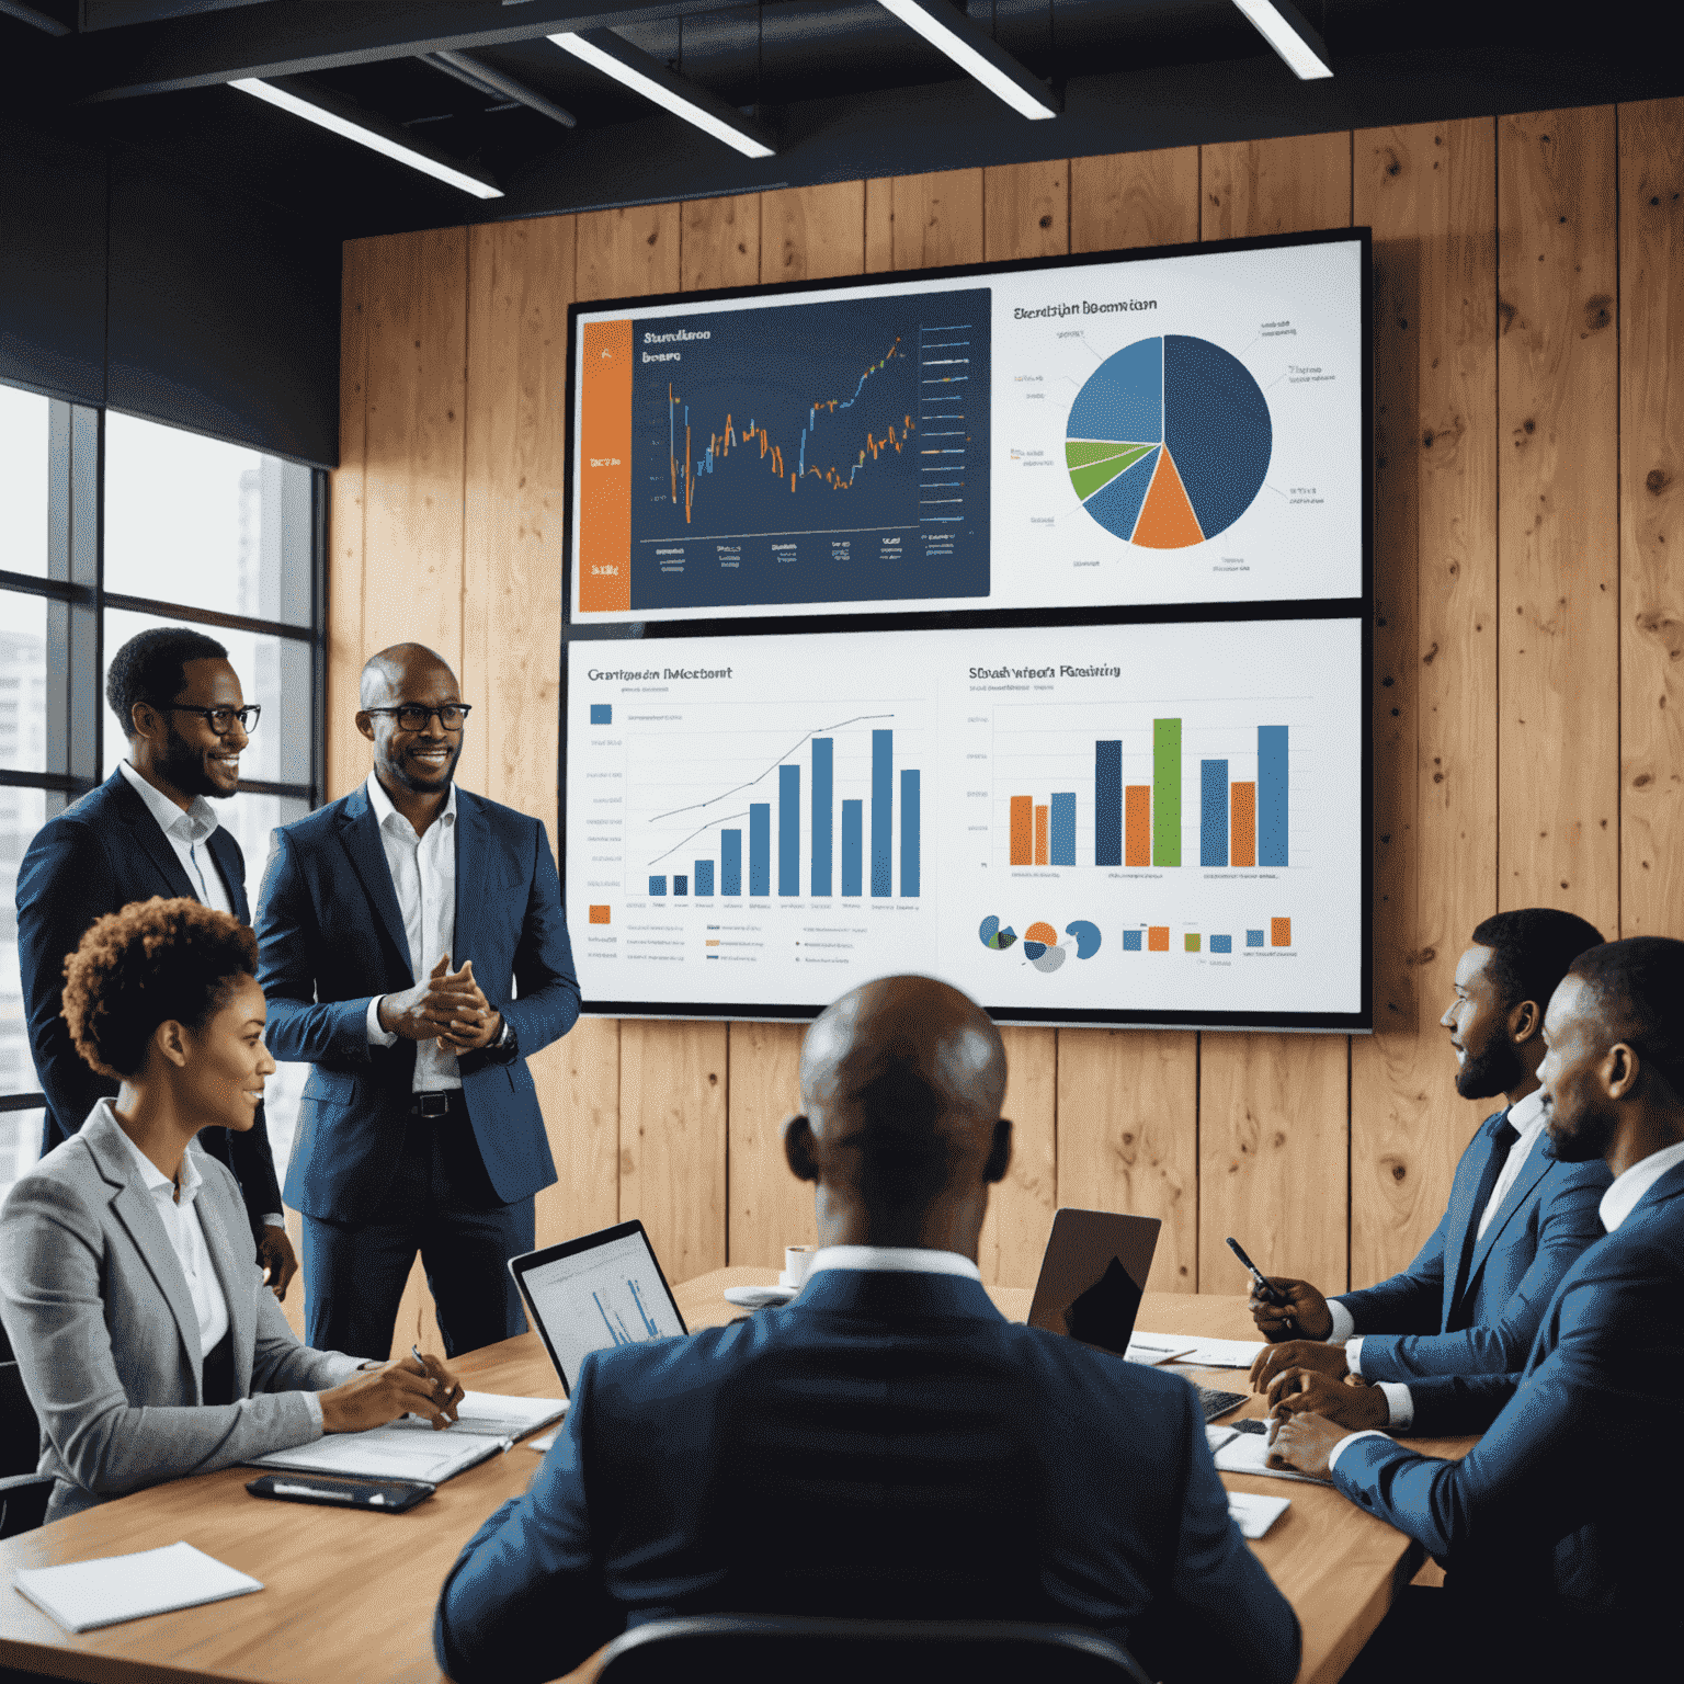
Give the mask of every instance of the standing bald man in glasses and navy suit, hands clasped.
POLYGON ((556 1179, 525 1059, 573 1027, 579 985, 542 823, 453 781, 450 667, 399 643, 360 701, 374 771, 274 832, 258 908, 269 1049, 315 1066, 286 1202, 312 1346, 386 1361, 419 1251, 455 1356, 525 1329, 504 1265, 556 1179))

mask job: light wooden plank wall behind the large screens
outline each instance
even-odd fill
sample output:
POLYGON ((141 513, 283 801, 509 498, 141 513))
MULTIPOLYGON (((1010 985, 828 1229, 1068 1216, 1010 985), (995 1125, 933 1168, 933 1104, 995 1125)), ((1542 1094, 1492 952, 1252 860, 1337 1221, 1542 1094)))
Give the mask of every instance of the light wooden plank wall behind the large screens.
MULTIPOLYGON (((1031 1282, 1058 1204, 1160 1216, 1155 1288, 1238 1292, 1229 1233, 1329 1288, 1398 1268, 1480 1118, 1436 1022, 1472 926, 1546 903, 1681 930, 1681 136, 1660 101, 355 241, 330 793, 367 770, 364 655, 418 637, 478 706, 465 780, 552 820, 569 300, 1367 224, 1378 1032, 1009 1031, 983 1270, 1031 1282)), ((778 1152, 798 1049, 581 1024, 534 1061, 541 1239, 638 1214, 679 1278, 812 1239, 778 1152)))

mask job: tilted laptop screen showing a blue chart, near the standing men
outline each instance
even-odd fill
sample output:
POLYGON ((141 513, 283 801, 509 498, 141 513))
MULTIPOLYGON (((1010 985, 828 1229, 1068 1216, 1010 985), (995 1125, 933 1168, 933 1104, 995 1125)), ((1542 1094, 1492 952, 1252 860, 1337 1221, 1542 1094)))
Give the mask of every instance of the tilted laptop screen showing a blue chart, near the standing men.
POLYGON ((529 1251, 509 1270, 569 1396, 589 1352, 687 1332, 642 1223, 529 1251))

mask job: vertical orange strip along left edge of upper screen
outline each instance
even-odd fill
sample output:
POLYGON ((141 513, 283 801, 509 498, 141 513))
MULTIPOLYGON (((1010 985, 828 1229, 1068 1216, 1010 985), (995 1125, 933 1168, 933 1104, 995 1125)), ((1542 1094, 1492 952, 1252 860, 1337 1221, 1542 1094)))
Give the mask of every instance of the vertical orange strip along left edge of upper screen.
POLYGON ((632 323, 588 322, 579 402, 579 611, 632 606, 632 323))

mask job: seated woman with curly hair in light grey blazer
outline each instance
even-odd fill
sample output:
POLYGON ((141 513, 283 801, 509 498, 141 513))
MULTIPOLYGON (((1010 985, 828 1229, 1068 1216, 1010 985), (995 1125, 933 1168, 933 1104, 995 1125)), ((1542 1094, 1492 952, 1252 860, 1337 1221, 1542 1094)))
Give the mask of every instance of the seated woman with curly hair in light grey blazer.
POLYGON ((414 1411, 461 1389, 428 1357, 359 1362, 286 1325, 239 1184, 194 1145, 248 1130, 274 1069, 258 945, 199 901, 136 901, 66 960, 76 1049, 121 1083, 0 1209, 0 1319, 42 1426, 47 1519, 414 1411))

